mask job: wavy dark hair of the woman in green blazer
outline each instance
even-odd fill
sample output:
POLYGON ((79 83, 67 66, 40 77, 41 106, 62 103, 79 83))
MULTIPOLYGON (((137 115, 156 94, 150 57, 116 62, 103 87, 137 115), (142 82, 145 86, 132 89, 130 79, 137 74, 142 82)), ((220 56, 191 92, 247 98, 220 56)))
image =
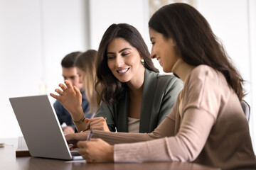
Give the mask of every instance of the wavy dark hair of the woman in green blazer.
POLYGON ((151 71, 159 72, 159 70, 154 67, 148 47, 139 31, 127 23, 112 24, 107 28, 102 37, 96 59, 97 81, 95 89, 97 90, 100 99, 108 105, 117 103, 127 89, 127 84, 120 82, 114 77, 107 66, 107 46, 114 38, 123 38, 129 42, 132 47, 135 47, 138 50, 142 59, 144 59, 144 67, 151 71))

